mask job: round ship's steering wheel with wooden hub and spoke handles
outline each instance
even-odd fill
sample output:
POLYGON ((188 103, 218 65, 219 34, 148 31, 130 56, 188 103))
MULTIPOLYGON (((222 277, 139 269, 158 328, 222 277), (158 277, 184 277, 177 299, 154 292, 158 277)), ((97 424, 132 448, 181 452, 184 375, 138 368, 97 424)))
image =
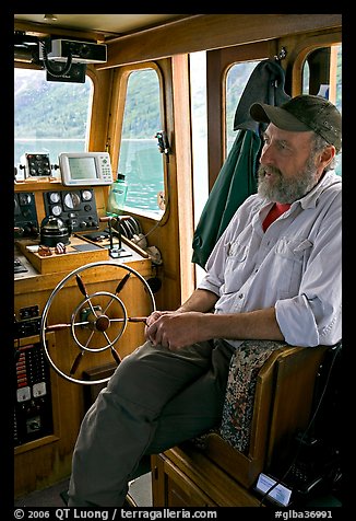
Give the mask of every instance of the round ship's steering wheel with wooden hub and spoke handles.
MULTIPOLYGON (((86 264, 68 274, 56 286, 44 308, 40 323, 40 340, 50 366, 60 377, 70 382, 81 383, 84 385, 106 383, 109 380, 110 375, 96 380, 80 378, 78 377, 79 367, 84 355, 97 355, 107 349, 110 349, 114 360, 119 364, 121 362, 121 358, 115 345, 123 335, 128 322, 145 322, 145 317, 143 316, 129 316, 127 306, 119 297, 119 293, 122 291, 123 287, 131 277, 135 277, 143 285, 143 289, 146 293, 146 298, 149 299, 151 308, 150 313, 155 311, 155 299, 147 281, 141 274, 126 264, 115 264, 112 262, 97 262, 86 264), (120 281, 115 288, 114 293, 110 291, 96 291, 90 294, 87 292, 84 278, 80 274, 91 269, 97 271, 97 269, 102 266, 116 268, 118 270, 118 279, 120 281), (119 270, 121 270, 121 273, 119 273, 119 270), (124 271, 123 277, 122 270, 124 271), (83 299, 75 306, 68 322, 49 325, 47 323, 48 314, 50 313, 55 299, 60 291, 73 286, 73 279, 75 280, 83 299), (46 339, 47 333, 63 329, 70 331, 75 343, 75 347, 79 349, 79 352, 74 355, 73 360, 67 359, 64 363, 59 362, 60 359, 66 359, 66 357, 58 356, 58 352, 56 352, 56 350, 59 349, 58 346, 55 348, 55 356, 52 356, 49 352, 49 343, 47 343, 46 339), (66 366, 66 368, 62 366, 66 366)), ((139 294, 131 294, 131 300, 139 298, 139 294)))

